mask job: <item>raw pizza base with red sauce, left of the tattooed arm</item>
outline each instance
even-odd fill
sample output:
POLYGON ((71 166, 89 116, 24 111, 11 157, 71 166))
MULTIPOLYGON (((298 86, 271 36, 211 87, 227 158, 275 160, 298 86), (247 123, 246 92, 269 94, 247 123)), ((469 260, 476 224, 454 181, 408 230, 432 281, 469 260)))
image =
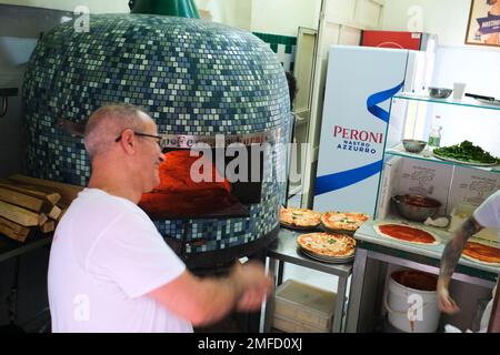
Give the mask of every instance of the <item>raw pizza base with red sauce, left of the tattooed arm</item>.
POLYGON ((439 240, 430 232, 416 226, 404 224, 387 223, 373 226, 376 232, 392 240, 423 245, 439 244, 439 240))

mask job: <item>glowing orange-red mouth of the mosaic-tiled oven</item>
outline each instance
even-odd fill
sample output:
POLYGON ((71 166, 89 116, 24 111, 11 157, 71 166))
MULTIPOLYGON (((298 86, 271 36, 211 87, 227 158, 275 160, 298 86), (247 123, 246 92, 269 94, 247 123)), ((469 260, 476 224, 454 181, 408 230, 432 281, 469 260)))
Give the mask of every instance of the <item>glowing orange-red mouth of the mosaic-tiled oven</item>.
POLYGON ((249 205, 261 202, 267 154, 254 136, 250 144, 239 141, 237 149, 164 143, 160 185, 139 205, 152 220, 249 216, 249 205))

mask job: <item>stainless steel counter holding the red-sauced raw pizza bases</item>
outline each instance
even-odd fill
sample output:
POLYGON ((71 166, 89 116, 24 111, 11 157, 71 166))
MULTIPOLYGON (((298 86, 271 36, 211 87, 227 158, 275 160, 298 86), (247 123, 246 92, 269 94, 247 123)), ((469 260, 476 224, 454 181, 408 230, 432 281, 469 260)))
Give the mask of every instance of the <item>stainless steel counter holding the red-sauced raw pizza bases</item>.
MULTIPOLYGON (((401 222, 401 220, 384 220, 383 222, 401 222)), ((439 264, 444 245, 451 237, 451 233, 427 227, 441 241, 437 245, 414 245, 380 236, 373 229, 377 222, 364 223, 354 234, 357 240, 356 258, 352 271, 349 308, 346 322, 346 332, 369 332, 373 318, 373 310, 377 306, 370 304, 380 302, 380 274, 388 264, 420 270, 439 274, 439 264), (370 320, 370 321, 367 321, 370 320)), ((422 227, 422 224, 416 224, 422 227)), ((460 258, 453 280, 492 288, 500 274, 500 267, 474 263, 460 258)))

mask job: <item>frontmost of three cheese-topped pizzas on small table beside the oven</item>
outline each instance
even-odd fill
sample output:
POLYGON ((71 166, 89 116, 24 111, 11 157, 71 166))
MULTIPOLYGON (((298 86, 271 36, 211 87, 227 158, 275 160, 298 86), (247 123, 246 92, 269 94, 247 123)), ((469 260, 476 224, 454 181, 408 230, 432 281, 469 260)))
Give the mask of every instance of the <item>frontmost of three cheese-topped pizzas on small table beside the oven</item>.
POLYGON ((308 233, 299 235, 297 243, 319 256, 349 257, 356 250, 356 240, 344 234, 308 233))

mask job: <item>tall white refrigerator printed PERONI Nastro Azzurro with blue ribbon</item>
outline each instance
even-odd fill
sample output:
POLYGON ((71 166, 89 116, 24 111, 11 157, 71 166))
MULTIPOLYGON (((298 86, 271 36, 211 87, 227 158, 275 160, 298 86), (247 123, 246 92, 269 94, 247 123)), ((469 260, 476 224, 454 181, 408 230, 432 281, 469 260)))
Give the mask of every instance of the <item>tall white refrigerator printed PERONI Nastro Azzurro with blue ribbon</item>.
POLYGON ((391 98, 423 92, 432 78, 430 62, 424 51, 330 48, 314 210, 374 216, 384 148, 396 145, 404 132, 404 112, 389 116, 391 98))

